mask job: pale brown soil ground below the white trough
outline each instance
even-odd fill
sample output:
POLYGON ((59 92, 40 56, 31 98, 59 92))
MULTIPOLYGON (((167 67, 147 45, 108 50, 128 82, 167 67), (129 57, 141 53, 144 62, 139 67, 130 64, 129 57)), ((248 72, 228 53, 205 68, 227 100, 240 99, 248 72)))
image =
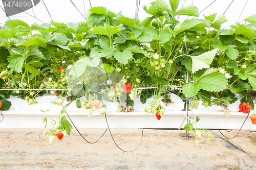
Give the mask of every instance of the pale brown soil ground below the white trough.
MULTIPOLYGON (((188 140, 185 131, 145 129, 140 147, 130 153, 116 147, 109 131, 95 144, 86 142, 76 130, 49 144, 43 131, 0 129, 0 169, 256 169, 256 133, 248 130, 234 139, 211 131, 215 139, 207 141, 203 136, 196 145, 192 132, 188 140), (250 164, 254 168, 245 167, 250 164)), ((105 129, 79 131, 87 140, 96 141, 105 129)), ((141 129, 111 131, 121 149, 138 147, 141 129)), ((238 130, 222 132, 232 137, 238 130)))

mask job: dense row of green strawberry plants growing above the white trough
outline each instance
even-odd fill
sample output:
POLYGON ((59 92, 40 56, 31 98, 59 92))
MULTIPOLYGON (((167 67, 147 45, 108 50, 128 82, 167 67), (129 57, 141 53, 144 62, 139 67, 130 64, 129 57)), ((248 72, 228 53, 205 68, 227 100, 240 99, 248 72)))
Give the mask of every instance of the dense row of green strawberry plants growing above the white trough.
MULTIPOLYGON (((222 29, 224 15, 201 19, 197 7, 178 7, 179 1, 154 1, 143 6, 149 15, 143 20, 105 7, 91 8, 84 22, 29 26, 8 20, 0 31, 0 87, 5 89, 0 90, 0 109, 10 108, 10 95, 34 105, 37 96, 56 90, 51 107, 68 104, 45 133, 50 142, 56 130, 70 135, 65 109, 72 102, 92 117, 98 110, 106 112, 104 101, 116 103, 118 111, 125 110, 124 103, 132 111, 138 95, 142 104, 154 96, 145 112, 160 119, 165 112, 160 102, 173 103, 168 93, 191 100, 190 110, 200 101, 204 107, 228 106, 239 94, 246 103, 240 111, 249 113, 254 107, 249 95, 254 98, 256 90, 255 16, 222 29), (181 22, 180 15, 193 18, 181 22)), ((185 129, 191 131, 193 123, 185 129)), ((204 130, 195 129, 196 143, 204 130)))

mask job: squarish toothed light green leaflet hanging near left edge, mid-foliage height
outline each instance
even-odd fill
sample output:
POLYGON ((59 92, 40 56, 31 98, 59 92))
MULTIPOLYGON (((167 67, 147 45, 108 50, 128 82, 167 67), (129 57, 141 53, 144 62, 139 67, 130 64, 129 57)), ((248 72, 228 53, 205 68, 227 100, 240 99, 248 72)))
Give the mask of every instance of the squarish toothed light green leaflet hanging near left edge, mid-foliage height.
POLYGON ((22 72, 25 56, 12 54, 9 56, 8 68, 12 68, 14 71, 22 72))

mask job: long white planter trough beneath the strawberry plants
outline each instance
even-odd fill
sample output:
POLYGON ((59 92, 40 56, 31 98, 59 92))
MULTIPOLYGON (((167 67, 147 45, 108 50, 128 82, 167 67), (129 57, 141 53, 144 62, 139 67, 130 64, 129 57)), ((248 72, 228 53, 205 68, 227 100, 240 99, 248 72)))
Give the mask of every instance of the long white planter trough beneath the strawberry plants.
MULTIPOLYGON (((142 104, 139 96, 134 101, 134 112, 117 112, 118 106, 115 103, 105 103, 108 107, 106 117, 109 127, 178 129, 184 119, 182 112, 186 114, 185 111, 179 111, 184 109, 184 102, 175 94, 172 94, 171 98, 178 108, 174 104, 169 104, 168 107, 165 107, 165 112, 160 120, 157 120, 152 113, 146 115, 143 110, 148 106, 148 103, 142 104)), ((50 102, 54 100, 57 100, 54 94, 45 94, 37 98, 38 104, 28 106, 27 101, 12 96, 8 99, 12 102, 12 106, 9 111, 3 111, 4 119, 0 123, 0 128, 44 128, 45 124, 42 123, 41 118, 46 117, 49 112, 43 113, 40 110, 48 110, 51 107, 50 102)), ((148 99, 148 101, 150 100, 152 99, 148 99)), ((196 116, 199 116, 198 124, 206 129, 240 129, 247 114, 238 112, 239 103, 237 101, 229 105, 228 109, 231 110, 229 117, 224 116, 222 107, 215 108, 215 110, 220 109, 219 111, 211 111, 211 108, 214 109, 214 107, 208 107, 193 111, 194 118, 196 119, 196 116)), ((65 101, 64 104, 68 104, 68 102, 65 101)), ((163 103, 162 106, 164 106, 163 103)), ((50 111, 51 117, 56 119, 61 109, 62 106, 53 105, 50 111)), ((75 106, 75 102, 68 107, 67 112, 77 128, 107 128, 105 116, 100 116, 97 111, 94 111, 93 116, 89 118, 84 109, 75 106)), ((254 111, 251 110, 252 112, 254 111)), ((256 125, 251 123, 250 115, 242 129, 256 130, 256 125)), ((188 116, 193 116, 191 111, 188 112, 188 116)), ((68 116, 67 119, 69 120, 68 116)), ((181 128, 186 123, 187 120, 181 128)))

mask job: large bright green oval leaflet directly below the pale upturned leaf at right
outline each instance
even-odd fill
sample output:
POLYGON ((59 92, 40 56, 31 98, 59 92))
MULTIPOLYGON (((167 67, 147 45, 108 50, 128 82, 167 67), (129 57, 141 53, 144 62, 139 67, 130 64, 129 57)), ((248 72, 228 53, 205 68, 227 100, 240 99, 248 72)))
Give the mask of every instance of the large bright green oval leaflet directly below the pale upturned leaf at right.
POLYGON ((220 72, 212 72, 197 82, 197 85, 207 91, 221 91, 226 89, 227 79, 220 72))

